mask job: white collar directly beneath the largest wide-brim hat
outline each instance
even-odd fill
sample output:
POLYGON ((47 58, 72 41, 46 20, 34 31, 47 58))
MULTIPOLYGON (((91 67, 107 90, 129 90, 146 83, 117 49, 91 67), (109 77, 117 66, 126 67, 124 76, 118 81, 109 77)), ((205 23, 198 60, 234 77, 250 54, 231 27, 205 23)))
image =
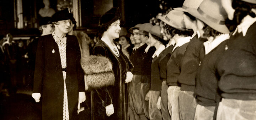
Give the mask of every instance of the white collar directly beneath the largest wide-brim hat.
POLYGON ((204 49, 205 49, 205 54, 208 54, 210 51, 212 51, 214 48, 216 48, 220 43, 223 41, 229 39, 229 34, 222 34, 217 36, 212 42, 206 41, 204 42, 204 49))

